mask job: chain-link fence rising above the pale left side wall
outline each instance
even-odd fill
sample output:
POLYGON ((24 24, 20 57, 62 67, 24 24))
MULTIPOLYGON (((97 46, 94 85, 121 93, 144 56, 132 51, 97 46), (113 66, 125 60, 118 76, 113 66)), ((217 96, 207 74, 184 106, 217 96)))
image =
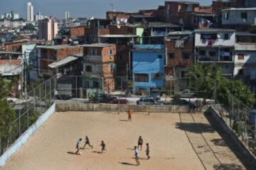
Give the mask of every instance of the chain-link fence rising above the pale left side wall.
POLYGON ((55 77, 52 77, 35 89, 28 92, 24 98, 17 99, 13 105, 16 120, 9 125, 9 135, 0 140, 0 155, 4 154, 28 128, 36 122, 54 103, 55 77))

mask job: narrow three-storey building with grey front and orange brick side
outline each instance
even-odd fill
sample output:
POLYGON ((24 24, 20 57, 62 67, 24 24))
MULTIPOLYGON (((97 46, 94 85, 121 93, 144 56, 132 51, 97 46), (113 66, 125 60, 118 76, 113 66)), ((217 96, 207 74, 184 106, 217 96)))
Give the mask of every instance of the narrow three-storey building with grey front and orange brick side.
POLYGON ((114 59, 117 47, 113 44, 96 43, 84 45, 84 86, 86 89, 114 91, 114 59))

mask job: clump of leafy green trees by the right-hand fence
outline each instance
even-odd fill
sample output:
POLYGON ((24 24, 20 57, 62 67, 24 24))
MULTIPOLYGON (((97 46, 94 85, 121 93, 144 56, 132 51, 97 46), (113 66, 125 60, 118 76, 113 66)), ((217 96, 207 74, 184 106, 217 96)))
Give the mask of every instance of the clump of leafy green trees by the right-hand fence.
POLYGON ((206 66, 195 63, 188 72, 191 85, 198 97, 213 98, 214 94, 220 103, 228 105, 231 96, 238 98, 245 106, 252 107, 255 103, 255 95, 250 91, 250 87, 241 80, 227 79, 223 77, 223 72, 215 65, 206 66))

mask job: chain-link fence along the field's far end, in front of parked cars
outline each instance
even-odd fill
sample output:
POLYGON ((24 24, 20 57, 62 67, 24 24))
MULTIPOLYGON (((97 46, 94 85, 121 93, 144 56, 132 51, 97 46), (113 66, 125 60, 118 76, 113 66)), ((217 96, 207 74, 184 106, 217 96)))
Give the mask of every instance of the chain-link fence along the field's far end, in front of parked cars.
MULTIPOLYGON (((203 93, 191 85, 191 79, 157 77, 149 81, 144 77, 60 77, 56 84, 58 100, 79 99, 90 103, 129 105, 182 105, 201 108, 203 93), (174 98, 176 100, 174 100, 174 98)), ((206 103, 205 103, 206 104, 206 103)))

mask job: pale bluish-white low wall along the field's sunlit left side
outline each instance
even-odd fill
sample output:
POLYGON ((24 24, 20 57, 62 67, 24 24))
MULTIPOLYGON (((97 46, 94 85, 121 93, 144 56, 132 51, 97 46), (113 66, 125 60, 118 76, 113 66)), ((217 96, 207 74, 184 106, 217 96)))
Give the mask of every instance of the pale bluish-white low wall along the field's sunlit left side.
POLYGON ((33 133, 36 132, 36 130, 38 130, 38 128, 41 125, 43 125, 43 123, 45 123, 46 120, 48 120, 48 118, 50 118, 50 116, 53 115, 53 113, 55 113, 55 103, 52 106, 50 106, 46 113, 43 113, 43 115, 41 115, 40 118, 36 120, 36 123, 31 125, 31 127, 28 128, 28 130, 26 130, 26 132, 24 132, 23 135, 21 135, 21 137, 18 137, 18 140, 16 140, 16 142, 13 145, 11 145, 11 147, 9 147, 9 149, 7 149, 6 152, 4 152, 4 154, 0 157, 0 166, 4 166, 4 164, 6 164, 6 161, 13 154, 18 152, 19 149, 21 149, 21 147, 28 141, 28 139, 33 135, 33 133))

